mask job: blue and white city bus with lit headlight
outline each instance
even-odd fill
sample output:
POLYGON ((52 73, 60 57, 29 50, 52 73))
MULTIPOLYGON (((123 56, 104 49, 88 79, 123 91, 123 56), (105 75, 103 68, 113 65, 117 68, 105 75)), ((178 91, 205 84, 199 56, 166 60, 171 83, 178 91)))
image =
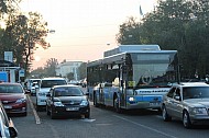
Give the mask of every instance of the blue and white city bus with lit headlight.
POLYGON ((95 106, 161 108, 163 95, 179 80, 177 50, 158 45, 121 45, 87 64, 87 90, 95 106))

